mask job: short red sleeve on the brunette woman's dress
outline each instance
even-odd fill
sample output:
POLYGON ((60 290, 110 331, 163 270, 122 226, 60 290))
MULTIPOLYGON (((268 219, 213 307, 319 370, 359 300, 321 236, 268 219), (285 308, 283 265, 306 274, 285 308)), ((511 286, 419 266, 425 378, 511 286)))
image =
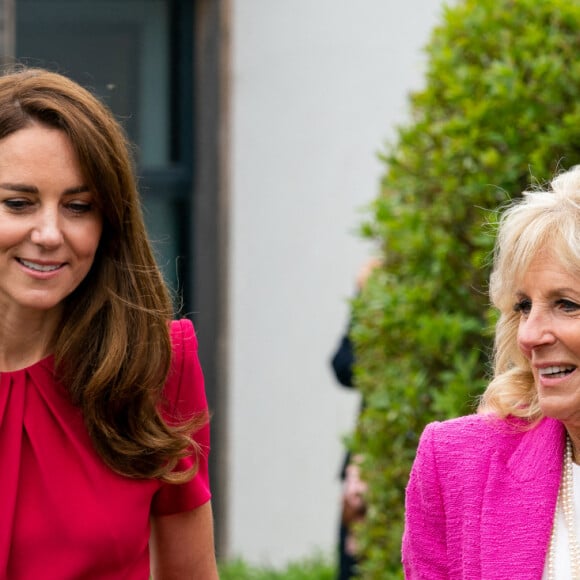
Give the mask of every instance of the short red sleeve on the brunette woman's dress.
MULTIPOLYGON (((191 321, 182 319, 171 323, 173 346, 172 366, 165 385, 167 420, 179 422, 194 416, 207 417, 207 399, 203 372, 197 352, 197 338, 191 321)), ((184 484, 163 483, 153 498, 153 515, 170 515, 189 511, 206 503, 211 498, 208 473, 210 449, 209 423, 193 435, 200 453, 182 459, 177 469, 187 469, 197 459, 198 471, 184 484)))

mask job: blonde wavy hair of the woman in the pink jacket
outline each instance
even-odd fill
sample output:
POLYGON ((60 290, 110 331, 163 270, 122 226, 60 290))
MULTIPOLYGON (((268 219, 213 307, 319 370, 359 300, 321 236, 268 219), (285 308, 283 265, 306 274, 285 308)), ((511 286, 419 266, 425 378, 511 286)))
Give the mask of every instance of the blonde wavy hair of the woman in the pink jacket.
POLYGON ((538 421, 538 403, 529 361, 520 352, 516 291, 539 252, 557 256, 580 279, 580 167, 561 173, 547 190, 524 192, 503 212, 495 245, 490 297, 499 311, 495 331, 494 377, 479 412, 538 421))

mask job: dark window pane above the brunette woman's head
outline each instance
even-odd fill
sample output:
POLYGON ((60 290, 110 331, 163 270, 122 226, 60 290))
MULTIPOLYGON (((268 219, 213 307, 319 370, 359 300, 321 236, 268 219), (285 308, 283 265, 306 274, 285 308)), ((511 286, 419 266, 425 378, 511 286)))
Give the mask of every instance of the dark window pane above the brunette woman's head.
POLYGON ((170 39, 164 0, 18 0, 16 54, 98 94, 138 144, 141 167, 170 160, 170 39))

